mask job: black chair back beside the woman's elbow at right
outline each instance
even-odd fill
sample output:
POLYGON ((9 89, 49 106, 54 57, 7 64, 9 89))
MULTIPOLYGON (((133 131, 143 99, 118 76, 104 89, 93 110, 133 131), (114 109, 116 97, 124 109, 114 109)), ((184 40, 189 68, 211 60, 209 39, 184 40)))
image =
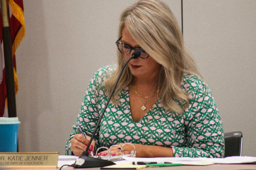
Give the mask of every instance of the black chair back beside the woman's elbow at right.
POLYGON ((225 156, 242 156, 243 134, 240 131, 224 133, 225 156))

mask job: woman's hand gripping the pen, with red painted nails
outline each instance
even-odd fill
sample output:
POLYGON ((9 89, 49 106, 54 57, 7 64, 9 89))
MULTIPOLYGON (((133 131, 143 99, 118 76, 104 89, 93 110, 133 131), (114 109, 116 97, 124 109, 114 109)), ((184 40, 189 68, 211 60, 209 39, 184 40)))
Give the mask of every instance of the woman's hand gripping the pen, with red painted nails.
MULTIPOLYGON (((86 150, 87 146, 88 146, 88 142, 91 139, 89 136, 86 136, 86 138, 88 140, 86 140, 83 135, 81 134, 75 134, 75 136, 70 140, 71 142, 71 149, 74 155, 76 156, 81 156, 82 153, 86 150)), ((93 148, 95 146, 95 142, 94 140, 91 142, 91 146, 88 150, 88 152, 90 153, 91 151, 93 151, 93 148)))

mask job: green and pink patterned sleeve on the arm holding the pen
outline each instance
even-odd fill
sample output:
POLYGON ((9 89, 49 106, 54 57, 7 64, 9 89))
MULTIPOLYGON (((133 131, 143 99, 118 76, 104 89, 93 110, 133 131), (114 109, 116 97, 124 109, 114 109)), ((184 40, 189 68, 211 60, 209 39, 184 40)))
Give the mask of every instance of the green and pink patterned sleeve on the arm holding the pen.
MULTIPOLYGON (((98 105, 98 88, 100 87, 101 81, 103 81, 102 73, 103 68, 98 70, 93 78, 91 79, 87 90, 84 95, 82 105, 79 110, 79 114, 76 119, 76 123, 73 126, 73 132, 69 135, 68 141, 65 146, 65 154, 71 155, 71 143, 70 140, 74 137, 75 134, 79 133, 77 130, 77 125, 80 125, 83 131, 91 136, 95 130, 96 124, 99 119, 99 105, 98 105)), ((103 87, 103 86, 102 86, 103 87)), ((99 131, 95 134, 94 137, 95 147, 99 147, 99 131)))

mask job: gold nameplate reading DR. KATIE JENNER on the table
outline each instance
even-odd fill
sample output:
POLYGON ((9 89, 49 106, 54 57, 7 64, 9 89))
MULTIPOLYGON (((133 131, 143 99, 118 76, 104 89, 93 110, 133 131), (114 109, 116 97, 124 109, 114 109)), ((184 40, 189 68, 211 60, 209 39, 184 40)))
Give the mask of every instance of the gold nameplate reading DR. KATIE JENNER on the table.
POLYGON ((0 152, 1 168, 57 168, 59 152, 0 152))

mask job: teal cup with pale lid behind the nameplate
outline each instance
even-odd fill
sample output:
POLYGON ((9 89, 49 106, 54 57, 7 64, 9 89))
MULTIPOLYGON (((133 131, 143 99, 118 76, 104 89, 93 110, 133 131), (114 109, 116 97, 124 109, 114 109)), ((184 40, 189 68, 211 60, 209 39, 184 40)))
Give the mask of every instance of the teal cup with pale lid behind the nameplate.
POLYGON ((0 152, 17 152, 19 119, 0 117, 0 152))

